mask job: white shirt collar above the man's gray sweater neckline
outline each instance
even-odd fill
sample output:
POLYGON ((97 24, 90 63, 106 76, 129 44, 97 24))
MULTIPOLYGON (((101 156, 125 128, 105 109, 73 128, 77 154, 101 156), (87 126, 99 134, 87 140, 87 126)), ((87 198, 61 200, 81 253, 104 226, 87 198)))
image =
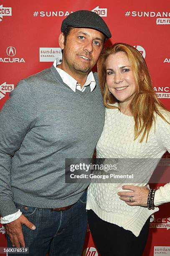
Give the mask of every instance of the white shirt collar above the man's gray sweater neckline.
MULTIPOLYGON (((71 75, 69 75, 67 72, 65 72, 63 69, 60 69, 57 67, 57 65, 61 64, 61 62, 62 62, 62 55, 55 59, 55 61, 53 62, 53 66, 56 68, 56 70, 57 70, 58 74, 61 76, 63 82, 65 84, 67 84, 71 90, 76 92, 77 81, 76 81, 76 79, 71 77, 71 75)), ((90 86, 90 91, 92 92, 96 86, 96 82, 95 82, 94 75, 93 75, 92 71, 88 74, 86 82, 84 84, 84 86, 88 86, 88 85, 90 86)))

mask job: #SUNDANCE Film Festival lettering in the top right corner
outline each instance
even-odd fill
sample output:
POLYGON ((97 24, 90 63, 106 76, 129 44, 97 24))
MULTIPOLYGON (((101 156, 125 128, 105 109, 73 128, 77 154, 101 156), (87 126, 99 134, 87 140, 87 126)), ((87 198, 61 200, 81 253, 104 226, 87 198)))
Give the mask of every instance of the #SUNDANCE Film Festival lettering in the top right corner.
POLYGON ((156 19, 157 25, 170 25, 170 12, 154 12, 154 11, 126 11, 124 13, 126 17, 145 17, 145 18, 154 18, 156 19))

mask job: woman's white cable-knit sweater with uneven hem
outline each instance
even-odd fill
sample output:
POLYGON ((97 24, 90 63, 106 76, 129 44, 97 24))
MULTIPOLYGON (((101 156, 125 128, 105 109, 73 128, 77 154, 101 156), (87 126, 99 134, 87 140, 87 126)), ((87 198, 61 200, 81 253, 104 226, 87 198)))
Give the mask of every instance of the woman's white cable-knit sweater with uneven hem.
MULTIPOLYGON (((170 114, 165 114, 165 117, 170 122, 170 114)), ((157 116, 155 132, 154 129, 150 131, 147 143, 145 139, 142 143, 139 141, 140 138, 134 141, 133 117, 122 114, 118 109, 107 108, 104 129, 96 146, 97 158, 146 158, 146 161, 151 158, 160 159, 166 151, 170 152, 170 125, 157 116)), ((136 167, 135 169, 133 165, 131 173, 139 174, 141 182, 133 185, 145 186, 154 172, 155 162, 153 161, 150 168, 136 167)), ((128 191, 122 190, 122 185, 91 182, 86 209, 92 209, 102 220, 119 225, 139 236, 146 220, 159 208, 148 210, 147 207, 127 205, 117 195, 119 191, 128 191)), ((169 183, 155 192, 154 204, 157 206, 165 202, 170 202, 169 183)))

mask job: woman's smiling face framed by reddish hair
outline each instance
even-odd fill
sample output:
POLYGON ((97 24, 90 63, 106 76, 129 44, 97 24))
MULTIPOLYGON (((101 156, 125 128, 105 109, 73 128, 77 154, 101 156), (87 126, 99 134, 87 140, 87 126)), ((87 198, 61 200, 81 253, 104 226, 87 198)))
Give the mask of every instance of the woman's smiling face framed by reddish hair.
POLYGON ((130 102, 135 92, 132 68, 123 51, 110 54, 106 59, 107 86, 119 102, 130 102))

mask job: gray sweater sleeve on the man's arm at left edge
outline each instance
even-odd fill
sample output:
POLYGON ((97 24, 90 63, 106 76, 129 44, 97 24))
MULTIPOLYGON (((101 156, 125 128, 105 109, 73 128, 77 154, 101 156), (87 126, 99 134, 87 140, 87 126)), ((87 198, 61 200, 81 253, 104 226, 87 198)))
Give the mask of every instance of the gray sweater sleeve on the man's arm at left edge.
POLYGON ((18 211, 11 189, 11 163, 15 152, 33 125, 33 92, 25 80, 21 80, 10 92, 0 112, 0 215, 18 211))

